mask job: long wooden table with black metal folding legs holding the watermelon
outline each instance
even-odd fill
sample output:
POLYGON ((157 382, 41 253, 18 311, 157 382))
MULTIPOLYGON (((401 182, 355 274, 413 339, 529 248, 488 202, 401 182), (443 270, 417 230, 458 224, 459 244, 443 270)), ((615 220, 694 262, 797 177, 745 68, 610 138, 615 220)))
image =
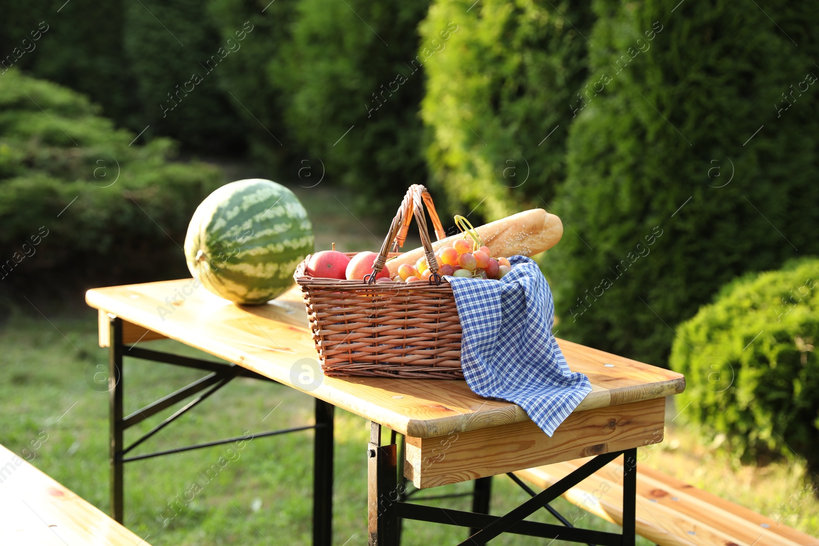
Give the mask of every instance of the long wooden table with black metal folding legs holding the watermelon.
MULTIPOLYGON (((111 354, 111 485, 113 516, 118 521, 122 519, 122 464, 135 459, 124 457, 135 446, 124 448, 124 428, 188 395, 212 389, 179 410, 187 411, 232 377, 250 376, 278 381, 316 399, 314 544, 329 544, 330 540, 326 522, 332 514, 333 407, 373 423, 367 452, 371 544, 394 544, 398 518, 450 525, 455 522, 476 532, 483 529, 482 535, 473 537, 476 541, 469 544, 482 544, 498 530, 536 536, 554 536, 559 530, 562 539, 570 539, 571 535, 595 544, 633 544, 633 523, 629 526, 628 521, 623 532, 631 538, 621 542, 620 535, 592 531, 584 531, 587 534, 583 535, 580 530, 520 520, 620 453, 626 453, 622 479, 624 493, 631 496, 633 521, 636 448, 663 440, 665 397, 685 388, 681 374, 559 340, 569 368, 585 373, 593 390, 550 438, 516 404, 477 396, 464 381, 314 376, 311 367, 317 365, 316 353, 301 293, 296 288, 267 305, 239 307, 197 285, 192 279, 182 279, 99 288, 86 295, 88 305, 99 309, 100 345, 108 346, 111 354), (138 346, 141 341, 163 337, 234 365, 203 363, 138 346), (133 345, 129 348, 126 344, 133 345), (124 354, 207 369, 211 375, 123 417, 124 354), (404 436, 405 449, 400 461, 394 441, 380 445, 381 426, 404 436), (471 480, 486 484, 482 478, 590 455, 599 457, 587 468, 581 468, 577 476, 568 476, 564 483, 555 485, 556 489, 538 494, 518 512, 505 517, 439 508, 435 509, 437 513, 431 513, 426 507, 406 503, 405 488, 396 483, 396 466, 401 463, 403 475, 415 487, 428 488, 471 480)), ((224 441, 232 440, 236 439, 224 441)), ((139 458, 150 456, 153 454, 139 458)), ((488 508, 488 485, 478 489, 476 500, 484 497, 486 503, 475 503, 473 508, 486 512, 481 508, 482 504, 488 508)))

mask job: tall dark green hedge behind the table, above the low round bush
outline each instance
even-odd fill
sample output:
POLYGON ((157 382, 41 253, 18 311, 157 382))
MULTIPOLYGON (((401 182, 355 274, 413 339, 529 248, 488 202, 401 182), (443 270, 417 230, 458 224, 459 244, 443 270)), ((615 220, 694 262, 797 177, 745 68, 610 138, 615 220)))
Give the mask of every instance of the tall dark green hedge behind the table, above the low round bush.
POLYGON ((671 7, 595 3, 548 265, 561 336, 658 365, 722 284, 819 254, 817 12, 671 7))

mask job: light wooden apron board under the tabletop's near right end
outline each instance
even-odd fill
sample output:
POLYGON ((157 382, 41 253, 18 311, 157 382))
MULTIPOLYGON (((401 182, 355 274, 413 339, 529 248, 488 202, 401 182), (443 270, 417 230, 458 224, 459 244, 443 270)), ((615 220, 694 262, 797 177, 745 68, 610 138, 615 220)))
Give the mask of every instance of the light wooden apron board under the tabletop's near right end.
POLYGON ((665 399, 572 413, 550 438, 534 422, 406 437, 405 476, 419 488, 495 476, 663 440, 665 399))

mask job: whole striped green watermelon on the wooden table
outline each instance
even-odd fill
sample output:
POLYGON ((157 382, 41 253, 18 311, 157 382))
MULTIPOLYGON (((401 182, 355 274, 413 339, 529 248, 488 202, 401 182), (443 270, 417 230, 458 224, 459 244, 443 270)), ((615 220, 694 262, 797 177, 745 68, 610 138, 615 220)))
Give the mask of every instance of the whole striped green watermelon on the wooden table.
POLYGON ((238 304, 263 304, 293 285, 313 251, 313 227, 293 192, 252 178, 219 187, 193 213, 185 237, 191 274, 238 304))

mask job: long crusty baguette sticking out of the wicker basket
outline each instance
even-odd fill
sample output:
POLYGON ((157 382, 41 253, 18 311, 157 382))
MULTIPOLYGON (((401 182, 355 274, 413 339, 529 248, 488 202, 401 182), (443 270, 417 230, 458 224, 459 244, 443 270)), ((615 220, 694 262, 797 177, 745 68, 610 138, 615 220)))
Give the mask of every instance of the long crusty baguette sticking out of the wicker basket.
MULTIPOLYGON (((533 256, 549 250, 560 241, 560 237, 563 237, 563 222, 543 209, 532 209, 478 226, 475 231, 496 258, 514 255, 533 256)), ((438 250, 441 246, 451 245, 463 237, 464 233, 446 237, 433 242, 432 248, 438 250)), ((419 247, 387 260, 390 277, 398 273, 401 264, 415 264, 422 256, 423 247, 419 247)))

